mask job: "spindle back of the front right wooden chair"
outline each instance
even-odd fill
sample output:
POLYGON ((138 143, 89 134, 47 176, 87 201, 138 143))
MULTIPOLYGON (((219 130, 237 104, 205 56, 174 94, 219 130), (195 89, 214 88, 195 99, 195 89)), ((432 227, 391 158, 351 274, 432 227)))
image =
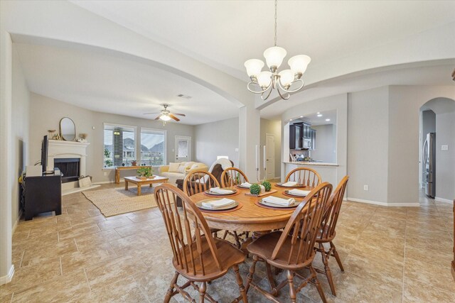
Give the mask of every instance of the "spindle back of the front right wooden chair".
POLYGON ((304 201, 297 206, 274 248, 272 260, 277 258, 284 243, 289 241, 289 237, 291 238, 291 248, 287 255, 289 265, 301 265, 314 255, 314 243, 331 192, 332 184, 323 182, 311 190, 304 201))

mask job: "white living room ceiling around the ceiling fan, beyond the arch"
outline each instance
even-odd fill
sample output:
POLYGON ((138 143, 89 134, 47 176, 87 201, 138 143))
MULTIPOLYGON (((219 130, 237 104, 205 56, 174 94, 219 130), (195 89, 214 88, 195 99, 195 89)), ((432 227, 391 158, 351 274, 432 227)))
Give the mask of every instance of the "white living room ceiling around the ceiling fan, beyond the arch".
MULTIPOLYGON (((180 123, 196 125, 238 116, 238 107, 196 82, 112 54, 14 43, 28 89, 92 111, 155 119, 169 104, 180 123), (191 99, 177 97, 178 94, 191 99)), ((172 122, 172 121, 169 121, 172 122)))

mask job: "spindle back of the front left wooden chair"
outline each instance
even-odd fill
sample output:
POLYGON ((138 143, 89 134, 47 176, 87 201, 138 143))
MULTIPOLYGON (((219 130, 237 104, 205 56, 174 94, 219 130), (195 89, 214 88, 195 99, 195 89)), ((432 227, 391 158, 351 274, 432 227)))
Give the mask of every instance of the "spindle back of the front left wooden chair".
POLYGON ((190 198, 177 187, 160 184, 155 188, 155 199, 166 224, 173 260, 176 263, 174 265, 193 276, 205 275, 204 260, 208 246, 215 265, 219 270, 223 270, 210 228, 190 198), (183 211, 180 212, 177 209, 177 197, 182 200, 183 211), (205 247, 204 243, 207 243, 205 247))

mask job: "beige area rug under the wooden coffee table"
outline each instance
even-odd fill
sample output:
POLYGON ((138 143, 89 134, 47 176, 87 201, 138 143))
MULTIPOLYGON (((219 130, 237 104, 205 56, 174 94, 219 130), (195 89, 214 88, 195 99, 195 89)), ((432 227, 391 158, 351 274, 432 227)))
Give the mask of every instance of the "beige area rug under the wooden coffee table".
POLYGON ((109 188, 82 192, 104 216, 126 214, 141 209, 156 207, 153 187, 142 187, 141 195, 137 196, 137 187, 109 188))

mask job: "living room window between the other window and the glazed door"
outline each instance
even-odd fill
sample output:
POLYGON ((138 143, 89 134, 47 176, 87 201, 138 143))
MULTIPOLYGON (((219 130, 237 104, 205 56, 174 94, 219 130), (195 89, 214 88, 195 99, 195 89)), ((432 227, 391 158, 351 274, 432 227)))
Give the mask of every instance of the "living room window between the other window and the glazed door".
POLYGON ((141 128, 141 165, 166 165, 166 131, 141 128))

